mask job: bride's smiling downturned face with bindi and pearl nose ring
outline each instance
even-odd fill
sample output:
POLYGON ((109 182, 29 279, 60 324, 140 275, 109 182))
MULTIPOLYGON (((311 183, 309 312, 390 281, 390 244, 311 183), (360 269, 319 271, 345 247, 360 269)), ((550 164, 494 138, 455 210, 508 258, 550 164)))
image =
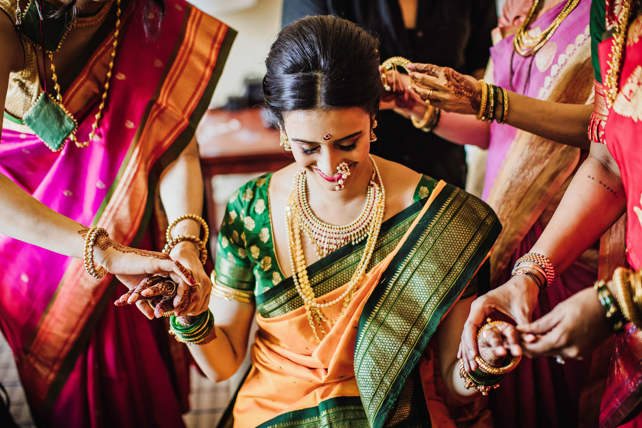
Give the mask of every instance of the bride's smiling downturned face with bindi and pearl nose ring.
POLYGON ((325 189, 334 191, 336 167, 346 162, 354 181, 369 171, 372 117, 360 107, 295 110, 283 117, 285 132, 297 164, 325 189))

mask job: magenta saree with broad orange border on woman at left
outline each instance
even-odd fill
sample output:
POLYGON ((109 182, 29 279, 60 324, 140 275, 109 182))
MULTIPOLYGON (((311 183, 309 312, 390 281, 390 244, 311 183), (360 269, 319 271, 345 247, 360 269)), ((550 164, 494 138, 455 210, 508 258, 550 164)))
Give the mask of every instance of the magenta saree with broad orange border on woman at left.
MULTIPOLYGON (((165 5, 159 37, 147 41, 143 4, 122 2, 107 104, 88 148, 67 142, 53 153, 6 114, 0 144, 0 172, 35 198, 121 243, 155 249, 160 173, 193 138, 236 35, 183 0, 165 5)), ((78 60, 64 92, 81 141, 98 108, 112 30, 86 63, 78 60)), ((162 320, 108 304, 124 290, 112 275, 90 277, 79 259, 0 237, 0 328, 40 425, 183 426, 186 368, 174 364, 162 320)))

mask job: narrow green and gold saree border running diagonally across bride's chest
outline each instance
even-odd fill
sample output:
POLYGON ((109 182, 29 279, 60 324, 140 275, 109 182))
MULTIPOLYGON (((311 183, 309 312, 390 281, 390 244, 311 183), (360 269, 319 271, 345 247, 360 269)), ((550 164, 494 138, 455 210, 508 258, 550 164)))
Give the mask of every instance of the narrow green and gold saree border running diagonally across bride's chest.
MULTIPOLYGON (((408 227, 417 218, 426 200, 427 198, 424 198, 413 203, 382 223, 367 270, 372 269, 394 250, 408 227)), ((349 282, 361 260, 365 244, 366 241, 363 240, 356 245, 345 245, 308 266, 308 275, 315 295, 325 295, 349 282)), ((303 299, 294 287, 293 278, 288 277, 277 286, 256 296, 256 304, 263 318, 273 318, 302 307, 303 299)))

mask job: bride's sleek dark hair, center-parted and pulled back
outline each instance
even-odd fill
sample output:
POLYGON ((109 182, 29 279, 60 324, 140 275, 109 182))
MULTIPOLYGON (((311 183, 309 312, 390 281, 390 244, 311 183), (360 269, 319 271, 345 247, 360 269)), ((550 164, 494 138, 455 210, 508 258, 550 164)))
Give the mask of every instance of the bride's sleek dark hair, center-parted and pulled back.
POLYGON ((331 15, 305 17, 281 30, 265 60, 266 108, 284 112, 333 107, 379 111, 379 40, 331 15))

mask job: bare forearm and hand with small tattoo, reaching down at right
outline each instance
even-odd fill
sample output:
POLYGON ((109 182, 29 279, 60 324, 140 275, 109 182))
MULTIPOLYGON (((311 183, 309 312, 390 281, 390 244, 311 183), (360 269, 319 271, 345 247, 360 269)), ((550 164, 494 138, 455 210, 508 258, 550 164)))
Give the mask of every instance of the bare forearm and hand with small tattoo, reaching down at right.
MULTIPOLYGON (((592 143, 589 157, 578 169, 531 252, 548 257, 559 275, 618 221, 626 203, 617 164, 606 146, 592 143)), ((478 355, 475 334, 483 320, 490 313, 500 311, 525 325, 531 319, 538 293, 532 279, 516 275, 473 303, 462 335, 464 360, 473 370, 476 368, 474 357, 478 355)))

